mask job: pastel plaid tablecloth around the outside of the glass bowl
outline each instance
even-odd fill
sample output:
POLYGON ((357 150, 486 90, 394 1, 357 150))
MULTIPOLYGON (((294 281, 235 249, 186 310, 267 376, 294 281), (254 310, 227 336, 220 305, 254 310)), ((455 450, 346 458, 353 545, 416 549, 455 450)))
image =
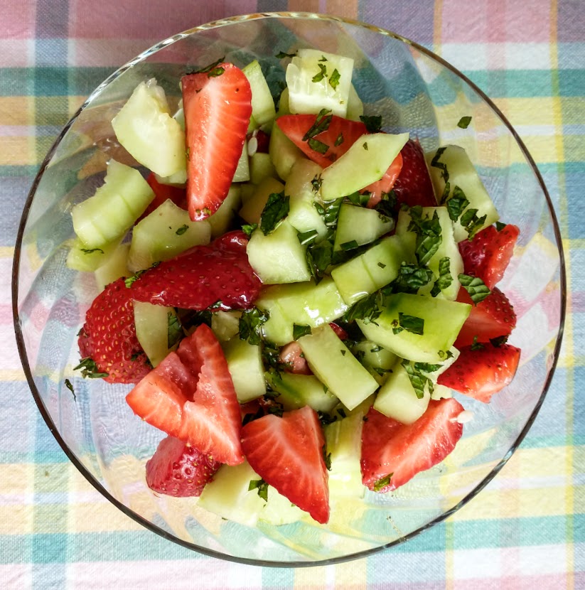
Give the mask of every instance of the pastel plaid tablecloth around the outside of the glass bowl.
POLYGON ((0 2, 0 587, 585 588, 585 3, 582 0, 0 2), (70 465, 23 377, 11 318, 21 208, 60 128, 117 66, 172 33, 254 11, 390 28, 463 70, 532 152, 564 236, 569 315, 534 426, 471 503, 368 559, 262 569, 183 549, 119 513, 70 465))

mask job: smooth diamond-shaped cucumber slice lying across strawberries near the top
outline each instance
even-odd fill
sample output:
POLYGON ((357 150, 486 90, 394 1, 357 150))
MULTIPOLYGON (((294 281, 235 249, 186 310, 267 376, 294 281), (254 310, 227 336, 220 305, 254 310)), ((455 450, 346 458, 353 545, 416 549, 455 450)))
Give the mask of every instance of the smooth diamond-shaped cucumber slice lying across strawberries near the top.
POLYGON ((321 174, 321 197, 332 200, 379 181, 407 142, 408 134, 362 136, 321 174))

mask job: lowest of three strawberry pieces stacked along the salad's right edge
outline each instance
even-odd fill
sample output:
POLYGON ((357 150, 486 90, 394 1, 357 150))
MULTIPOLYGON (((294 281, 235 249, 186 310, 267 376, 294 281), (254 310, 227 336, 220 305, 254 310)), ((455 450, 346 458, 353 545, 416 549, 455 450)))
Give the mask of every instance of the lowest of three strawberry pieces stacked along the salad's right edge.
POLYGON ((459 352, 455 363, 439 375, 437 383, 486 404, 512 381, 520 361, 520 348, 510 344, 494 346, 488 342, 473 349, 464 346, 459 352))

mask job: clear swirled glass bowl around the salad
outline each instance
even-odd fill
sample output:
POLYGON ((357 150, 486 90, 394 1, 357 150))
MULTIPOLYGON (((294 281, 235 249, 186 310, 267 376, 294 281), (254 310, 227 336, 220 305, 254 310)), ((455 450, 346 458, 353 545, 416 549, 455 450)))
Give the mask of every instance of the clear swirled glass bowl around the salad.
POLYGON ((363 557, 434 525, 473 498, 502 468, 537 414, 559 354, 565 278, 559 228, 540 173, 503 114, 451 65, 416 43, 363 23, 316 14, 253 14, 194 28, 162 41, 110 76, 82 105, 46 157, 23 210, 14 257, 16 337, 45 422, 71 461, 120 510, 163 537, 239 562, 300 566, 363 557), (188 68, 218 58, 257 58, 273 87, 284 81, 275 55, 301 47, 348 55, 366 114, 385 129, 418 136, 425 149, 463 146, 505 222, 520 240, 501 288, 518 315, 510 342, 522 348, 512 384, 490 404, 462 398, 475 418, 441 465, 395 493, 367 493, 333 507, 328 525, 249 528, 222 520, 196 500, 157 497, 144 464, 163 436, 124 402, 131 386, 83 380, 77 331, 97 295, 92 274, 65 267, 70 210, 102 181, 119 148, 112 117, 141 81, 156 77, 179 98, 188 68), (457 122, 473 117, 468 129, 457 122), (75 397, 65 387, 69 379, 75 397))

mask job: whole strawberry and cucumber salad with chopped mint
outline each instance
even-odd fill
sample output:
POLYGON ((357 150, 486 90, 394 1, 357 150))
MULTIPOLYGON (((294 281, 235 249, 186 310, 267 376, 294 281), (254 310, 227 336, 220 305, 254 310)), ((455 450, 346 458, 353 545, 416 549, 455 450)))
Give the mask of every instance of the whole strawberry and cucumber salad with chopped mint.
POLYGON ((139 166, 109 161, 68 255, 101 289, 76 370, 164 433, 149 488, 245 525, 404 485, 520 359, 519 231, 466 152, 365 115, 350 58, 280 58, 277 96, 257 61, 186 73, 176 109, 141 82, 112 121, 139 166))

